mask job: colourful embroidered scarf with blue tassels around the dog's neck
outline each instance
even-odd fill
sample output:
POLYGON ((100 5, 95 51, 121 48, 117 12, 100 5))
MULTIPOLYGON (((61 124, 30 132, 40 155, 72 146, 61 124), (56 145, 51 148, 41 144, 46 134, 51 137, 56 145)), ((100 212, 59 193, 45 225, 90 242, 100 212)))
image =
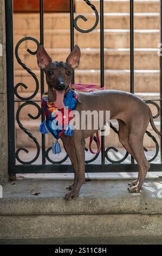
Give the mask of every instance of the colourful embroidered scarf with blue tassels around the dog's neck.
POLYGON ((64 108, 60 109, 55 107, 54 102, 48 101, 48 93, 42 95, 41 103, 46 120, 40 125, 39 131, 43 134, 50 132, 56 138, 52 146, 52 152, 56 155, 61 153, 61 146, 57 141, 61 135, 71 136, 74 133, 74 128, 70 124, 70 120, 72 120, 73 111, 75 111, 77 106, 77 96, 74 90, 70 89, 70 91, 64 95, 64 108))

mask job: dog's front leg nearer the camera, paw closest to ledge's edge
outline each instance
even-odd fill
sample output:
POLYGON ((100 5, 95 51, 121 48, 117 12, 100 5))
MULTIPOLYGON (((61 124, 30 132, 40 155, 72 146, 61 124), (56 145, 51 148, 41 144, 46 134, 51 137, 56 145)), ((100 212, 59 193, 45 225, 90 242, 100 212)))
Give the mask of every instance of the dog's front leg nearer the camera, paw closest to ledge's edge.
POLYGON ((85 139, 83 137, 74 137, 74 146, 77 159, 78 178, 72 190, 66 194, 65 199, 75 199, 78 197, 80 188, 85 182, 85 139))

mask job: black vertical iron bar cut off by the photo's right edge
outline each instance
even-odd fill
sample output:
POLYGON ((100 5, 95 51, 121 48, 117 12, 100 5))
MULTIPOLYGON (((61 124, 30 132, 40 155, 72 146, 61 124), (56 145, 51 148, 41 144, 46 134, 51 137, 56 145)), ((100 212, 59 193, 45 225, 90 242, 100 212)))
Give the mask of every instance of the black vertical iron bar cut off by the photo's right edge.
MULTIPOLYGON (((162 47, 162 0, 160 0, 160 48, 162 47)), ((161 53, 161 51, 160 51, 161 53)), ((162 56, 160 54, 160 132, 162 132, 162 56)), ((162 161, 162 138, 160 138, 160 161, 162 161)))

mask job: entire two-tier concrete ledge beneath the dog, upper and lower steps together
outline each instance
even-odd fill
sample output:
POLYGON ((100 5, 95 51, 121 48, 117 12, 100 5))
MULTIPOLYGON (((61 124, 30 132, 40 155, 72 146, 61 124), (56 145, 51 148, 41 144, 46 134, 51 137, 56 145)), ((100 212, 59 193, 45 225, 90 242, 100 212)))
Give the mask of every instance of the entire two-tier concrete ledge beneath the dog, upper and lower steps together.
MULTIPOLYGON (((79 198, 69 202, 63 199, 69 180, 24 179, 15 181, 15 185, 4 184, 0 199, 0 243, 22 238, 51 239, 53 243, 77 243, 81 238, 84 243, 86 237, 87 243, 95 243, 94 237, 96 243, 100 243, 101 237, 106 237, 105 243, 124 243, 121 237, 135 237, 140 243, 139 237, 148 241, 152 236, 153 241, 160 241, 161 179, 147 179, 137 194, 128 193, 128 182, 86 182, 79 198), (40 194, 32 196, 31 190, 40 194)), ((133 238, 127 241, 131 243, 133 238)))

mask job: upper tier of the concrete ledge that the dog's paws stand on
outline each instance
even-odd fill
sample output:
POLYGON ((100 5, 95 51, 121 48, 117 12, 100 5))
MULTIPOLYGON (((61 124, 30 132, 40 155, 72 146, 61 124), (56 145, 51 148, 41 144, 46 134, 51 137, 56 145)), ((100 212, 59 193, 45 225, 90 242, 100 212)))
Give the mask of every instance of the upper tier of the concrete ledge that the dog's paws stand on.
POLYGON ((21 180, 3 186, 0 215, 162 214, 162 181, 146 180, 141 193, 127 191, 129 180, 88 181, 76 200, 63 197, 71 181, 21 180), (40 192, 32 196, 31 190, 40 192))

